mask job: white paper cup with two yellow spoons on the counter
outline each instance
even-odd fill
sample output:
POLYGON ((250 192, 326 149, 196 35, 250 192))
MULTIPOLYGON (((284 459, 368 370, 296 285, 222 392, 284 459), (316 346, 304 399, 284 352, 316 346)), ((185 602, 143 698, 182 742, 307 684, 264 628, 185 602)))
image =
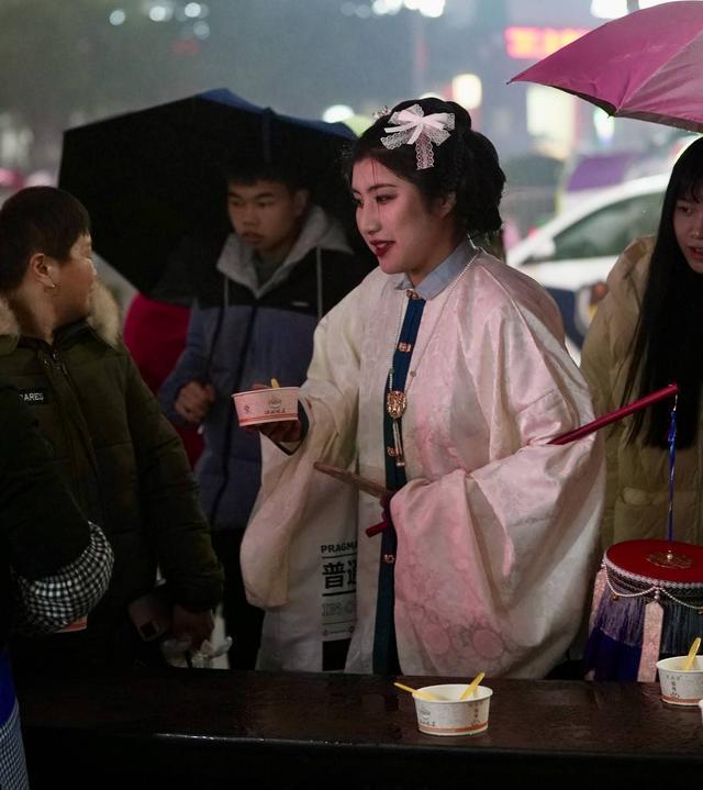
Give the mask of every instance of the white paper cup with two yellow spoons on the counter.
POLYGON ((435 702, 413 694, 420 732, 453 736, 478 735, 488 730, 492 689, 479 686, 468 700, 460 700, 466 687, 466 683, 444 683, 417 689, 439 698, 435 702))

